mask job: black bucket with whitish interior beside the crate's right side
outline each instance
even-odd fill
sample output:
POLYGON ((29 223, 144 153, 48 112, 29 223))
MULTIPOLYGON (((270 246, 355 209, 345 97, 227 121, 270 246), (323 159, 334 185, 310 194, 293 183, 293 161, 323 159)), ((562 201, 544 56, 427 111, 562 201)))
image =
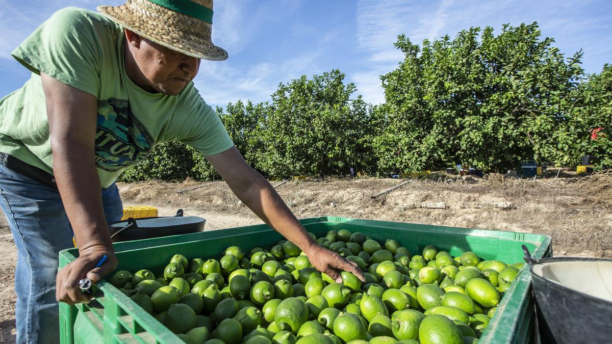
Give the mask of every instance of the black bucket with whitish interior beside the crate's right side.
POLYGON ((537 260, 523 251, 542 343, 612 343, 612 260, 537 260))

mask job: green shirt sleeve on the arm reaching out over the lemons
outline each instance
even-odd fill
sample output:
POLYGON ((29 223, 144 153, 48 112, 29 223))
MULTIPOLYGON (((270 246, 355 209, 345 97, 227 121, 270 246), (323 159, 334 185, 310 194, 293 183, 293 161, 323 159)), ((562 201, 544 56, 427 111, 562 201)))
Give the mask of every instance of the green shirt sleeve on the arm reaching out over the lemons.
POLYGON ((215 110, 196 93, 193 111, 185 118, 179 141, 198 149, 203 155, 215 155, 232 148, 234 142, 215 110))

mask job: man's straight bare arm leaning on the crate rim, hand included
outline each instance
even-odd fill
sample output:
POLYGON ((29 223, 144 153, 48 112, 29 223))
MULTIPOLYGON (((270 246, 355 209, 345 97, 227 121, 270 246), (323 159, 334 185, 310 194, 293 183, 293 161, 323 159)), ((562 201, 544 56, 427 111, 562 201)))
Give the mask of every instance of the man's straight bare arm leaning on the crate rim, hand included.
POLYGON ((94 160, 97 99, 43 73, 40 77, 47 100, 53 174, 79 249, 79 257, 58 272, 56 299, 89 302, 78 281, 88 277, 97 282, 117 266, 94 160), (106 263, 93 269, 103 255, 108 256, 106 263))

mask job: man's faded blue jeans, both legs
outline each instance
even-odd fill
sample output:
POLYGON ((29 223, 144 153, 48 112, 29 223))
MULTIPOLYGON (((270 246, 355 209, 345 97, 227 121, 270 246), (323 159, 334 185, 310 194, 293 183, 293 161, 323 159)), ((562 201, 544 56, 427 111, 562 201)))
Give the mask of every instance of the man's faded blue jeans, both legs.
MULTIPOLYGON (((107 222, 121 219, 117 185, 102 189, 102 202, 107 222)), ((59 343, 58 257, 74 247, 59 192, 0 163, 0 206, 17 245, 17 343, 59 343)))

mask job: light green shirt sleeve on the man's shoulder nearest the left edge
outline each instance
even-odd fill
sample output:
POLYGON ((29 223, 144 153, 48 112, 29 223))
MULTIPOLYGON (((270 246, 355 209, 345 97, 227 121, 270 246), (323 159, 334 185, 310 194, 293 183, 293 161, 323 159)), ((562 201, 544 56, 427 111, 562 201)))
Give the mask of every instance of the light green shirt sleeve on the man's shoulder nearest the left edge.
POLYGON ((85 10, 55 12, 11 53, 34 73, 98 97, 101 52, 85 10))

